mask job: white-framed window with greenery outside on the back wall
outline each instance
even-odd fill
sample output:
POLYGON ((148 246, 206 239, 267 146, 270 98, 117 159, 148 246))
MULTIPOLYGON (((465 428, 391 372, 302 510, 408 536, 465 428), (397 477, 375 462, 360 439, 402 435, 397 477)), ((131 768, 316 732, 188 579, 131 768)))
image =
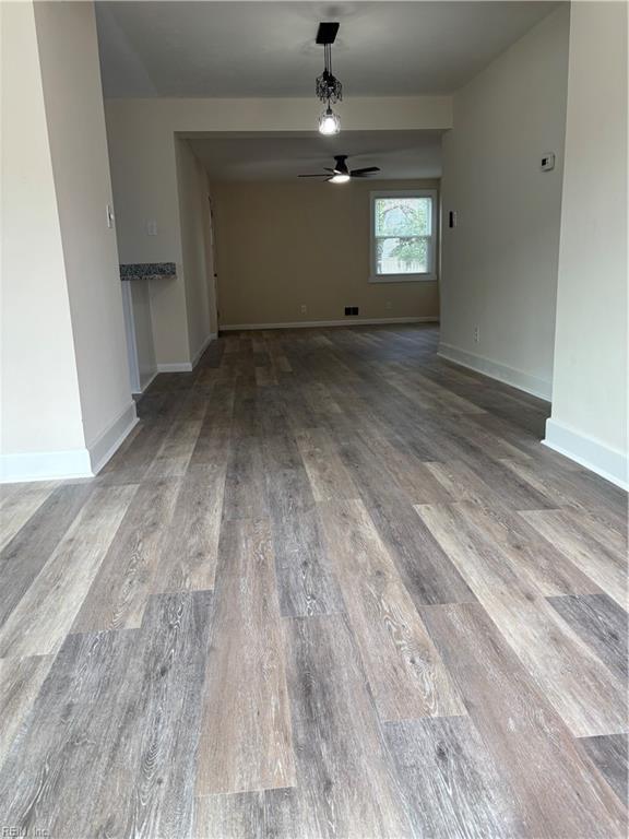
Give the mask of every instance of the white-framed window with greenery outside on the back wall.
POLYGON ((372 283, 436 280, 437 192, 371 192, 372 283))

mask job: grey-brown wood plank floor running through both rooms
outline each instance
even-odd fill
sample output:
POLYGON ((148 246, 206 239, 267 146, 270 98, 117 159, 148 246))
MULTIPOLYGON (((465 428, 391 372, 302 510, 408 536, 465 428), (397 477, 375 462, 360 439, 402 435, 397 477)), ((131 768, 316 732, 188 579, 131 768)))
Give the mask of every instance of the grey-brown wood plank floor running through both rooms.
POLYGON ((437 342, 229 334, 2 487, 1 836, 626 836, 626 495, 437 342))

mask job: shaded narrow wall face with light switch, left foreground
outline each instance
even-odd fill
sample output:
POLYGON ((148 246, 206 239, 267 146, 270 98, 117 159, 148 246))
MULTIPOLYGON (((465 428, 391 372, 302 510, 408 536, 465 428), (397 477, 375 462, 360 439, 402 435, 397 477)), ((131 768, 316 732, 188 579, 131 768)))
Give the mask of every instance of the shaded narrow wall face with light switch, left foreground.
POLYGON ((131 407, 94 7, 39 2, 35 22, 85 442, 131 407))

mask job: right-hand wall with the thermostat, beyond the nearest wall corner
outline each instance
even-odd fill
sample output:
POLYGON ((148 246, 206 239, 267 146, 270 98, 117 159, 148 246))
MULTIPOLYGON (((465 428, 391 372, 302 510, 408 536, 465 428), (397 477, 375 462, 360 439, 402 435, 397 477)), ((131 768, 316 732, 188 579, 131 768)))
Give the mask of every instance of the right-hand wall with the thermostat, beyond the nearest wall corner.
POLYGON ((441 353, 550 398, 569 11, 454 96, 444 135, 441 353), (554 172, 539 159, 555 152, 554 172), (479 340, 474 330, 478 327, 479 340))

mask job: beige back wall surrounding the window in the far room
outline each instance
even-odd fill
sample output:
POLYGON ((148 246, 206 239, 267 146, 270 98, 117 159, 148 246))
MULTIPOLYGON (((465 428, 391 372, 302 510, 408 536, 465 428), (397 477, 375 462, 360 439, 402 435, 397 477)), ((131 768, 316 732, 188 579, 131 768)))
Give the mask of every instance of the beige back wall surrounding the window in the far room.
POLYGON ((436 282, 368 282, 369 192, 414 187, 438 181, 214 184, 219 327, 437 317, 436 282))

